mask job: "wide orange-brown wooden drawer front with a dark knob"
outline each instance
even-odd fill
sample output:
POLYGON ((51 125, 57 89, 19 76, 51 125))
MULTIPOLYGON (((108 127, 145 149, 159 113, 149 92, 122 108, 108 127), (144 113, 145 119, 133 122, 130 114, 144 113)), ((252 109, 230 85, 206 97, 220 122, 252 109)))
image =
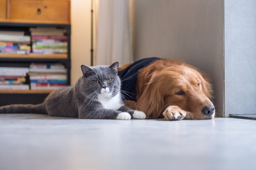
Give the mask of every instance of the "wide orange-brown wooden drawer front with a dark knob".
POLYGON ((11 20, 69 23, 69 1, 9 0, 7 17, 11 20))

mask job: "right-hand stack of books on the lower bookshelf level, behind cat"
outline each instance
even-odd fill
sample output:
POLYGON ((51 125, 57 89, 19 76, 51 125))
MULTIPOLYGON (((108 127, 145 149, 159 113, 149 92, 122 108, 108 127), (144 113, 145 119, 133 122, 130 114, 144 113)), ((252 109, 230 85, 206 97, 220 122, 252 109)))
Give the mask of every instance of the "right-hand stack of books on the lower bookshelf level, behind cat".
POLYGON ((61 63, 31 63, 30 89, 60 89, 67 86, 67 69, 61 63))

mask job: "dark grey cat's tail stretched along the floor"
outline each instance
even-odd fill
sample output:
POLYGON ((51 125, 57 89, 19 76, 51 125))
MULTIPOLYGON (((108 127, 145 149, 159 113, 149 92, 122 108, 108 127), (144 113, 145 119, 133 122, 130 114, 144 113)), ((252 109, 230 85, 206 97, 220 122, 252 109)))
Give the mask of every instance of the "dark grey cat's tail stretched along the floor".
POLYGON ((0 113, 38 113, 48 114, 45 108, 45 103, 38 105, 33 104, 13 104, 0 107, 0 113))

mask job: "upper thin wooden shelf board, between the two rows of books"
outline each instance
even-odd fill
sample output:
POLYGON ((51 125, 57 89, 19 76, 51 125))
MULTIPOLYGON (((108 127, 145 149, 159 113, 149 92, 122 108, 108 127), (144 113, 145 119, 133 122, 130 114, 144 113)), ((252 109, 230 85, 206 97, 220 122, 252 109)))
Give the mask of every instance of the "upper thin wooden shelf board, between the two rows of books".
POLYGON ((18 55, 0 53, 0 58, 67 59, 67 54, 39 55, 31 53, 28 55, 18 55))

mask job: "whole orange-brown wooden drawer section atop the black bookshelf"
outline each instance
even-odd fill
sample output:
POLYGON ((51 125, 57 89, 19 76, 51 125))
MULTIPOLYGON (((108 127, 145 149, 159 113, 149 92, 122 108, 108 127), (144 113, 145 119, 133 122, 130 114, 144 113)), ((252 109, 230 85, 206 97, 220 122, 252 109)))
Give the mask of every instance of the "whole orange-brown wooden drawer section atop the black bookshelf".
POLYGON ((70 0, 0 0, 0 22, 70 23, 70 0))

